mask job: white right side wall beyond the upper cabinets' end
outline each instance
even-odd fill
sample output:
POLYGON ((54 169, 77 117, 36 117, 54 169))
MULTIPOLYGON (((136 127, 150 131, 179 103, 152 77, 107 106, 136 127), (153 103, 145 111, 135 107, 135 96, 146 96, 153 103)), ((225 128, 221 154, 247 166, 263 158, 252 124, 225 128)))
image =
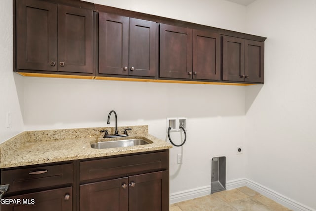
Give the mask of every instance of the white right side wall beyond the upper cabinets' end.
POLYGON ((257 0, 247 30, 265 42, 265 84, 246 88, 246 178, 316 209, 316 3, 257 0))

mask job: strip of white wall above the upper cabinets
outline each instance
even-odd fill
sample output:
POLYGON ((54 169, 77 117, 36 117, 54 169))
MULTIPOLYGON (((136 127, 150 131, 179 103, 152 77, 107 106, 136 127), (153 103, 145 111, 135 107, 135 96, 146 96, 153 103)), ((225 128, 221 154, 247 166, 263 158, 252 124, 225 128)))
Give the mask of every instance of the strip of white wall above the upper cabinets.
POLYGON ((93 3, 243 32, 246 7, 225 0, 86 0, 93 3))

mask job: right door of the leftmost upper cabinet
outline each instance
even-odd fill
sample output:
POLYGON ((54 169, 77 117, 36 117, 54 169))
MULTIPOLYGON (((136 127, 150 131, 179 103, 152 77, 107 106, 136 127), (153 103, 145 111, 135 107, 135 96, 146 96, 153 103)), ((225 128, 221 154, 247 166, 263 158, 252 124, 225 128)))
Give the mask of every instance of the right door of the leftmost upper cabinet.
POLYGON ((93 11, 58 5, 61 72, 93 73, 93 11))

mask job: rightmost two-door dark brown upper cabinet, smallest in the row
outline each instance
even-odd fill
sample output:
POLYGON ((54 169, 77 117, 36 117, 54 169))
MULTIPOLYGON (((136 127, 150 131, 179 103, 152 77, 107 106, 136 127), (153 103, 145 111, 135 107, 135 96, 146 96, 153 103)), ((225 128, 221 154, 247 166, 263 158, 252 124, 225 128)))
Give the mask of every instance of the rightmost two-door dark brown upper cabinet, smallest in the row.
POLYGON ((223 80, 264 82, 264 43, 223 36, 223 80))

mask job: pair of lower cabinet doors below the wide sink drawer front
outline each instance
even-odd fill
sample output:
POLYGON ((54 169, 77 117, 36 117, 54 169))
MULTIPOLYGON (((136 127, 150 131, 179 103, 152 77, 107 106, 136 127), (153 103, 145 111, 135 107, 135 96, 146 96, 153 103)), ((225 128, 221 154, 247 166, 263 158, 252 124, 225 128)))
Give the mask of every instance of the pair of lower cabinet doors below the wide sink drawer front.
POLYGON ((162 199, 168 195, 168 176, 167 171, 158 171, 80 185, 80 211, 167 210, 162 199))

